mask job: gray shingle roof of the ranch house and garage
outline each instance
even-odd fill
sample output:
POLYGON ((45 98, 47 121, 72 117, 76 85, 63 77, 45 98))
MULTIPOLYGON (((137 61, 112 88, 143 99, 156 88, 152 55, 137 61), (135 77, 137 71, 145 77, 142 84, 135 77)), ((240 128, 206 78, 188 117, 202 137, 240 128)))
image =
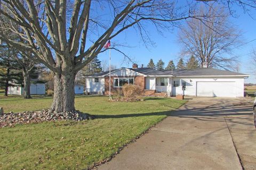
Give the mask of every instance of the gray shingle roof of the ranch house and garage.
MULTIPOLYGON (((151 76, 151 75, 172 75, 172 76, 247 76, 242 73, 227 71, 227 70, 219 70, 214 68, 197 68, 197 69, 174 69, 174 70, 164 70, 158 71, 152 68, 129 68, 130 70, 140 72, 143 75, 151 76)), ((114 72, 118 69, 111 70, 114 72)), ((104 76, 107 75, 108 71, 99 72, 93 75, 89 75, 92 77, 104 76)))

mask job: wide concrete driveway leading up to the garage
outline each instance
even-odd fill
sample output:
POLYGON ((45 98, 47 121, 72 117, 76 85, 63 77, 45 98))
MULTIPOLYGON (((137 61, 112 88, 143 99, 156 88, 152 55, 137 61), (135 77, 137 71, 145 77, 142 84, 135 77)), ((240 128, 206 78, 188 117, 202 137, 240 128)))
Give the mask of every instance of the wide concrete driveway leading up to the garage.
POLYGON ((256 169, 252 101, 191 99, 99 169, 256 169))

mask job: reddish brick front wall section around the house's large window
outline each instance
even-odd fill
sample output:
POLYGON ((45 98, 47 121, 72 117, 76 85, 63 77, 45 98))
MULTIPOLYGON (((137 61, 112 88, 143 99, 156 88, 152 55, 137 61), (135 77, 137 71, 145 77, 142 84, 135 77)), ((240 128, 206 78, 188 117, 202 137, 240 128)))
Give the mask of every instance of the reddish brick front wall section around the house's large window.
MULTIPOLYGON (((113 82, 114 78, 122 78, 122 77, 129 77, 129 76, 111 76, 111 95, 114 94, 116 90, 122 90, 120 87, 114 87, 113 82)), ((145 77, 144 76, 131 76, 134 77, 134 85, 138 85, 139 90, 143 93, 146 84, 145 84, 145 77)), ((105 76, 105 94, 109 94, 109 76, 105 76)))

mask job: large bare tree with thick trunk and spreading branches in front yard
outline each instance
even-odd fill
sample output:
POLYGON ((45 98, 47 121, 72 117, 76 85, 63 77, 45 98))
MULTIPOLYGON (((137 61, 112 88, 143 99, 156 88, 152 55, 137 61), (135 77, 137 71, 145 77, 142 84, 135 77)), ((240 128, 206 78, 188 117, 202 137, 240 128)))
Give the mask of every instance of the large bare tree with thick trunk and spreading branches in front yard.
POLYGON ((30 51, 33 53, 31 60, 53 71, 51 111, 57 112, 75 110, 75 76, 104 51, 102 47, 109 39, 133 27, 147 42, 147 23, 161 30, 177 26, 180 20, 199 17, 189 12, 193 10, 190 6, 179 7, 174 1, 153 0, 2 0, 2 9, 5 10, 0 10, 0 14, 23 31, 20 33, 15 27, 2 29, 10 29, 28 43, 9 39, 2 33, 0 39, 21 52, 30 51), (100 9, 108 15, 102 15, 100 9))

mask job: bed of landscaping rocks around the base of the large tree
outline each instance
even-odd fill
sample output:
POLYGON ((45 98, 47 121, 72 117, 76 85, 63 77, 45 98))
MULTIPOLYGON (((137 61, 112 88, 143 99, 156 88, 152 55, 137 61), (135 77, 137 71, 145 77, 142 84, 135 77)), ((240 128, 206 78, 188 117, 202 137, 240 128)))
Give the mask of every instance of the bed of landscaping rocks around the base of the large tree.
POLYGON ((72 112, 50 112, 49 110, 23 111, 18 113, 7 113, 0 115, 0 127, 14 126, 15 124, 40 123, 56 120, 88 120, 94 117, 76 110, 72 112))

